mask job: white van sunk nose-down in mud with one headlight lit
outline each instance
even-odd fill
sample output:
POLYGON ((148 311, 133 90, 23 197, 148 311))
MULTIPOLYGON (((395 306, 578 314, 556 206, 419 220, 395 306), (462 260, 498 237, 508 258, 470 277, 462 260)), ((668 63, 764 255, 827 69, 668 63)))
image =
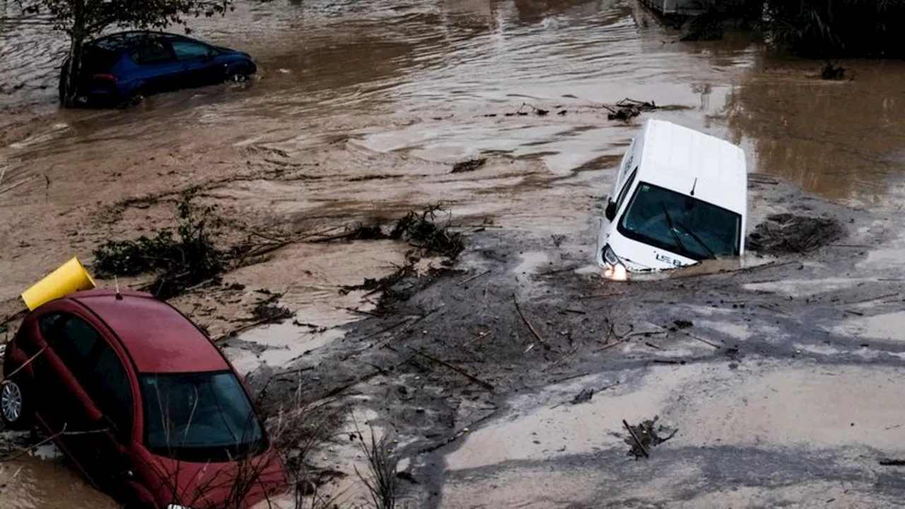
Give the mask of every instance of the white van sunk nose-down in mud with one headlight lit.
POLYGON ((745 152, 723 139, 648 120, 632 140, 597 239, 605 275, 672 269, 745 252, 745 152))

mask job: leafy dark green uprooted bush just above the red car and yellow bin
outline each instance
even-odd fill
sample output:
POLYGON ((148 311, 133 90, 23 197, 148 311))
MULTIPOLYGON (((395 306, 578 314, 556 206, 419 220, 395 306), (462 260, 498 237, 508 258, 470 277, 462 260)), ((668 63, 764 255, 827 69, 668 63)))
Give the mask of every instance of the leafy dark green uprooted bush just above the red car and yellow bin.
POLYGON ((147 289, 162 299, 222 274, 230 254, 214 246, 212 229, 220 220, 213 207, 195 206, 194 197, 192 190, 180 196, 175 232, 164 228, 156 235, 109 240, 95 248, 95 274, 100 278, 157 274, 147 289))

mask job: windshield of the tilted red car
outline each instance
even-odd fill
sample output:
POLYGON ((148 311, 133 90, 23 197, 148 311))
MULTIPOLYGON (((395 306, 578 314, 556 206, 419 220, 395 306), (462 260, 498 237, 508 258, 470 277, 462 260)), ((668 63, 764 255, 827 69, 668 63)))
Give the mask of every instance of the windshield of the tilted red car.
POLYGON ((265 438, 232 371, 140 377, 145 443, 159 456, 183 461, 228 461, 254 454, 265 438))

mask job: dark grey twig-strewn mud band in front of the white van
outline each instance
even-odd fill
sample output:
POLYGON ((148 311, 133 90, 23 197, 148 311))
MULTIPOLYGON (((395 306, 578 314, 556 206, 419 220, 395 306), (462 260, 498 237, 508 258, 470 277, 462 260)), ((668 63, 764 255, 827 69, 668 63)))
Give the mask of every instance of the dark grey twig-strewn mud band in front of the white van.
MULTIPOLYGON (((458 284, 464 277, 462 275, 433 280, 409 300, 392 303, 392 312, 386 318, 372 318, 357 323, 347 339, 335 346, 333 354, 329 354, 336 361, 325 361, 314 368, 316 376, 320 378, 320 388, 348 383, 355 378, 346 373, 373 370, 369 366, 381 366, 386 371, 388 376, 384 379, 384 389, 376 389, 377 392, 374 392, 375 389, 363 390, 366 393, 372 392, 374 409, 388 422, 395 423, 405 435, 420 437, 413 445, 406 447, 402 454, 416 458, 417 475, 426 479, 424 488, 428 495, 424 501, 425 507, 439 506, 438 494, 442 493, 445 482, 443 456, 460 447, 466 437, 452 440, 445 446, 443 444, 462 427, 475 427, 473 421, 477 418, 473 413, 459 415, 463 401, 471 401, 484 408, 505 408, 506 401, 512 396, 536 392, 557 379, 586 371, 601 375, 613 373, 620 377, 625 377, 626 372, 635 373, 634 376, 629 375, 628 379, 621 380, 622 389, 641 383, 645 372, 643 368, 658 358, 643 354, 620 356, 614 353, 615 349, 597 352, 603 345, 601 341, 610 321, 618 331, 626 331, 629 324, 638 322, 668 327, 676 320, 695 318, 688 306, 709 306, 730 311, 731 316, 724 317, 728 322, 746 322, 753 331, 750 338, 738 341, 719 331, 692 327, 687 331, 700 334, 710 341, 724 342, 728 348, 714 350, 710 354, 696 353, 689 357, 670 358, 685 360, 687 363, 734 362, 727 352, 729 348, 738 348, 737 355, 740 356, 741 363, 760 363, 770 359, 808 359, 827 366, 905 364, 890 354, 865 360, 855 353, 862 348, 864 341, 861 339, 819 330, 824 322, 831 322, 833 319, 838 322, 843 314, 840 303, 834 301, 858 300, 864 298, 867 292, 875 295, 895 291, 900 285, 853 288, 793 299, 774 293, 749 292, 741 288, 745 283, 765 280, 817 277, 817 274, 810 274, 814 271, 802 272, 797 265, 784 265, 748 273, 630 283, 618 288, 613 297, 579 300, 579 296, 600 293, 601 284, 596 276, 562 272, 542 278, 528 275, 526 280, 525 274, 512 273, 520 262, 519 249, 513 246, 525 250, 549 250, 549 239, 485 232, 471 235, 468 242, 472 246, 472 252, 466 254, 466 258, 472 264, 479 264, 481 270, 491 271, 490 274, 462 286, 458 284), (541 280, 542 283, 538 283, 541 280), (537 324, 539 333, 550 342, 551 351, 538 348, 525 352, 533 338, 512 307, 510 295, 512 292, 526 290, 526 285, 531 284, 539 288, 529 289, 534 297, 526 298, 521 305, 529 319, 537 324), (744 308, 733 304, 739 300, 746 303, 744 308), (639 301, 646 304, 640 308, 639 301), (785 315, 757 307, 757 303, 775 306, 783 310, 785 315), (585 314, 565 312, 567 308, 579 309, 585 314), (368 344, 376 341, 369 338, 369 335, 385 328, 397 320, 398 316, 423 316, 437 309, 442 311, 427 316, 413 330, 392 337, 386 348, 367 348, 368 344), (798 353, 793 341, 779 341, 777 344, 776 338, 769 333, 758 332, 767 326, 775 327, 786 337, 805 345, 824 345, 826 341, 830 341, 830 344, 843 352, 833 355, 810 351, 798 353), (472 341, 480 331, 491 331, 491 335, 469 347, 462 346, 472 341), (572 345, 578 346, 575 355, 556 370, 544 371, 569 351, 572 345), (413 359, 414 349, 430 351, 431 355, 439 359, 469 370, 492 384, 494 393, 487 394, 470 380, 454 372, 438 369, 430 362, 413 359), (338 362, 341 359, 345 361, 338 362), (344 369, 337 370, 338 365, 343 365, 344 369), (413 380, 415 376, 420 377, 416 382, 413 380), (398 389, 400 386, 408 389, 401 393, 398 389), (401 394, 404 396, 400 396, 401 394), (424 451, 430 452, 424 454, 424 451)), ((548 251, 548 254, 554 255, 553 266, 561 267, 574 264, 574 258, 580 260, 587 256, 588 249, 587 246, 580 246, 577 252, 562 250, 558 256, 556 253, 548 251)), ((838 260, 843 254, 851 256, 851 250, 846 252, 829 247, 814 256, 838 260)), ((859 259, 857 256, 849 257, 844 263, 853 264, 859 259)), ((676 340, 688 341, 688 338, 681 331, 672 332, 666 340, 659 339, 657 342, 667 348, 676 340)), ((640 336, 632 341, 643 342, 646 338, 640 336)), ((905 346, 892 341, 871 343, 889 352, 905 351, 905 346)), ((486 417, 486 412, 481 416, 486 417)), ((662 451, 657 453, 657 456, 661 456, 662 451)), ((741 453, 728 449, 720 454, 722 456, 708 458, 708 461, 729 461, 729 458, 738 458, 741 453)), ((767 464, 775 460, 776 458, 770 459, 767 464)))

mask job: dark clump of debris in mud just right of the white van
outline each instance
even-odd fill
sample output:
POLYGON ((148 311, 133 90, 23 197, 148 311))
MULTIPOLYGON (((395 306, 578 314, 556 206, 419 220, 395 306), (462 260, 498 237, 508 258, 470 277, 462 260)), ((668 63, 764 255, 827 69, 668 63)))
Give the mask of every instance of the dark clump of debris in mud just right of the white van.
POLYGON ((830 217, 774 214, 748 235, 748 248, 766 255, 807 253, 845 235, 845 228, 830 217))

